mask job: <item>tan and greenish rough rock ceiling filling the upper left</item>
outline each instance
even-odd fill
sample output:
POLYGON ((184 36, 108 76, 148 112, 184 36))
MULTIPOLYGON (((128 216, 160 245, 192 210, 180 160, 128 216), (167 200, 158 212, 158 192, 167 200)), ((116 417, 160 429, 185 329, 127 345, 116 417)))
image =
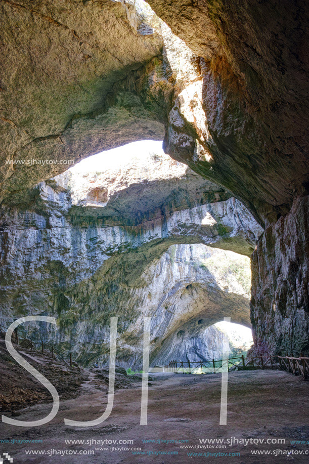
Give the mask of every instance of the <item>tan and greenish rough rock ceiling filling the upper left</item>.
POLYGON ((21 0, 0 9, 1 197, 65 171, 67 160, 163 139, 162 118, 136 92, 155 79, 162 36, 143 32, 134 5, 21 0))

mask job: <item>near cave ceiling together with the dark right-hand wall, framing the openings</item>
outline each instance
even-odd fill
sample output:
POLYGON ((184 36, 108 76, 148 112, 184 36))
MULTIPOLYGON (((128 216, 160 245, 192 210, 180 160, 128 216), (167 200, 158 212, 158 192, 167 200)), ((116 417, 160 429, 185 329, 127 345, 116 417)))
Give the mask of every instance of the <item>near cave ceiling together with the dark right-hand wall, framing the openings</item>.
POLYGON ((154 11, 141 0, 2 0, 2 205, 36 205, 44 225, 34 185, 68 161, 164 137, 166 153, 266 227, 252 265, 256 346, 308 354, 308 8, 148 3, 154 11))

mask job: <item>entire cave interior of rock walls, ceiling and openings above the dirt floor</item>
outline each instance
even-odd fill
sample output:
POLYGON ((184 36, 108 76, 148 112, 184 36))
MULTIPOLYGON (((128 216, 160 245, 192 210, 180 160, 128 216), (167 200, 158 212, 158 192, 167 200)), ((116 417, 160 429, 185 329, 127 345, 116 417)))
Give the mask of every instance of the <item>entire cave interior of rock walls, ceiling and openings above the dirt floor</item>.
MULTIPOLYGON (((219 358, 228 333, 232 353, 249 350, 262 365, 305 363, 308 7, 2 0, 0 9, 2 378, 21 377, 4 330, 38 315, 57 326, 25 323, 15 336, 41 346, 42 359, 69 353, 79 387, 98 365, 105 382, 112 317, 120 376, 143 368, 144 318, 151 366, 219 358), (226 317, 252 329, 250 348, 233 346, 226 317)), ((26 400, 16 399, 22 385, 10 389, 0 406, 13 414, 26 400)))

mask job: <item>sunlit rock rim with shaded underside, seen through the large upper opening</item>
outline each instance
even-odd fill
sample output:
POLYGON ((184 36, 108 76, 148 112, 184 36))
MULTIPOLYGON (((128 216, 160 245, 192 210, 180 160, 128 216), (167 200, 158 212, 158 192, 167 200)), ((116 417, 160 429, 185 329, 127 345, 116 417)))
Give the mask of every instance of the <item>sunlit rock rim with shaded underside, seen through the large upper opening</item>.
POLYGON ((147 146, 153 148, 141 152, 144 145, 128 145, 134 154, 127 156, 120 155, 122 150, 110 156, 96 155, 55 178, 57 185, 70 191, 72 214, 135 226, 176 210, 231 197, 222 187, 166 155, 161 143, 151 142, 147 146))

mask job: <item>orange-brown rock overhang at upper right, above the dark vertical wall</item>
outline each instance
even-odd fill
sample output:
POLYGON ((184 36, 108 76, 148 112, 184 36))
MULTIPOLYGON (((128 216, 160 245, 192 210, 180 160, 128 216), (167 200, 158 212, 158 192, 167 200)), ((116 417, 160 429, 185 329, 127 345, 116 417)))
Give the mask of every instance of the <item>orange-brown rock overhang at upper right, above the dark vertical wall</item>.
POLYGON ((308 193, 307 6, 148 3, 200 63, 169 113, 167 152, 276 221, 308 193))

